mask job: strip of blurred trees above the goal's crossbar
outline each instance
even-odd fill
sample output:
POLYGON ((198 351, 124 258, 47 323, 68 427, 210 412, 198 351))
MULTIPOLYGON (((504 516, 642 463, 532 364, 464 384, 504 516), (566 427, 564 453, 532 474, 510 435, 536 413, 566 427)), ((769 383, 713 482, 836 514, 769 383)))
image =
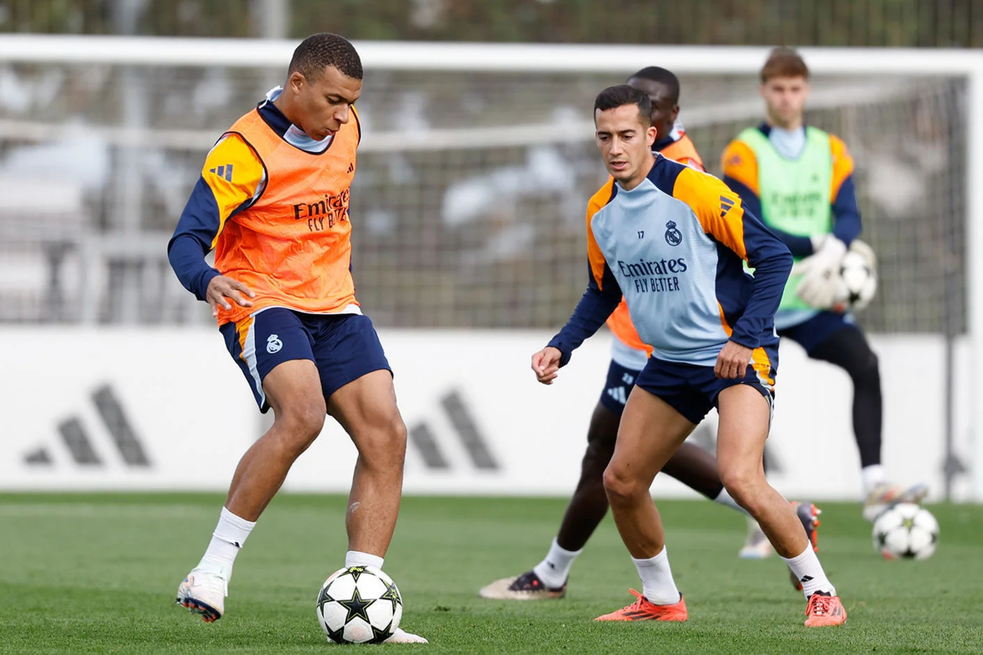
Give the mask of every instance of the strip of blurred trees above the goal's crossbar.
POLYGON ((0 0, 0 31, 983 47, 980 0, 0 0))

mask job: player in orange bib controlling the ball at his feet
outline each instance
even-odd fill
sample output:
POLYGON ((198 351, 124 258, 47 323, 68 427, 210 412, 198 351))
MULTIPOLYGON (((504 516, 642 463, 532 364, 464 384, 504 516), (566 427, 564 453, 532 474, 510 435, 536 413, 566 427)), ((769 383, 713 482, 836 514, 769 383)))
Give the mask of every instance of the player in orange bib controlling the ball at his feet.
MULTIPOLYGON (((240 548, 318 437, 325 414, 359 452, 345 566, 381 569, 392 539, 406 426, 351 274, 348 204, 362 136, 354 106, 362 78, 361 59, 346 39, 304 39, 283 87, 208 153, 168 246, 181 283, 211 305, 260 410, 274 414, 236 468, 202 561, 178 587, 178 604, 205 622, 224 614, 240 548), (214 267, 204 261, 212 248, 214 267)), ((400 628, 388 641, 426 639, 400 628)))

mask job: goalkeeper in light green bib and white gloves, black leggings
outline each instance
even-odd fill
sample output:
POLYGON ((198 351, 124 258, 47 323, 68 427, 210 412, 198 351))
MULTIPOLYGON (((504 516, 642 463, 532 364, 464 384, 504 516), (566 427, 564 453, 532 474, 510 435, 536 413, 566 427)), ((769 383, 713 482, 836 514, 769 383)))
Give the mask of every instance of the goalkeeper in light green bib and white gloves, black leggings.
POLYGON ((873 253, 856 241, 861 228, 853 159, 837 136, 804 124, 808 93, 809 69, 798 53, 773 50, 761 71, 767 120, 727 145, 723 182, 796 259, 775 316, 779 335, 797 342, 813 359, 839 366, 853 381, 853 432, 866 497, 864 517, 873 520, 889 504, 920 501, 927 489, 888 483, 881 464, 877 355, 853 316, 833 310, 841 300, 839 263, 846 250, 852 246, 870 258, 873 253))

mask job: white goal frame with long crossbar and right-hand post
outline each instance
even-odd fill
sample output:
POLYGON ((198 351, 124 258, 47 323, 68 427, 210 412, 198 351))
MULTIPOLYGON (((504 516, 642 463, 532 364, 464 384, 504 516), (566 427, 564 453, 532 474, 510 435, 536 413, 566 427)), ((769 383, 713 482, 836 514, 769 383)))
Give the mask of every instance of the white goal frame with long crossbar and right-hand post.
MULTIPOLYGON (((0 36, 0 65, 20 64, 113 64, 127 66, 173 66, 224 68, 277 68, 289 61, 297 41, 259 39, 213 39, 177 37, 125 36, 59 36, 37 34, 4 34, 0 36)), ((572 45, 572 44, 488 44, 434 42, 356 42, 367 71, 446 71, 484 73, 571 73, 589 72, 623 75, 637 68, 639 62, 653 62, 673 72, 685 75, 753 76, 760 69, 769 48, 717 46, 643 46, 643 45, 572 45)), ((970 456, 973 469, 972 497, 983 501, 983 196, 975 193, 983 183, 983 52, 954 49, 890 49, 890 48, 801 48, 814 75, 836 75, 839 78, 864 76, 949 77, 965 81, 964 179, 965 189, 965 261, 966 261, 966 322, 971 343, 971 380, 968 394, 972 408, 970 456)), ((0 131, 6 119, 0 119, 0 131)), ((10 129, 42 131, 40 124, 11 124, 10 129)), ((590 124, 576 123, 577 130, 587 131, 590 124)), ((509 128, 497 130, 500 138, 526 143, 530 139, 556 139, 569 134, 571 124, 556 128, 544 136, 542 130, 522 132, 509 128)), ((126 142, 145 136, 132 135, 120 128, 111 135, 126 142)), ((170 143, 188 149, 214 138, 196 131, 172 131, 159 136, 170 143), (184 139, 184 141, 182 140, 184 139), (204 139, 204 140, 202 140, 204 139)), ((454 129, 406 136, 401 143, 412 148, 438 146, 440 138, 447 147, 467 147, 473 131, 454 129), (409 140, 406 140, 409 139, 409 140)), ((578 138, 589 138, 579 135, 578 138)), ((900 137, 900 136, 899 136, 900 137)), ((365 146, 381 151, 385 138, 366 135, 365 146)), ((716 156, 716 154, 714 155, 716 156)), ((912 362, 916 367, 921 362, 912 362)), ((912 371, 913 375, 916 375, 912 371)))

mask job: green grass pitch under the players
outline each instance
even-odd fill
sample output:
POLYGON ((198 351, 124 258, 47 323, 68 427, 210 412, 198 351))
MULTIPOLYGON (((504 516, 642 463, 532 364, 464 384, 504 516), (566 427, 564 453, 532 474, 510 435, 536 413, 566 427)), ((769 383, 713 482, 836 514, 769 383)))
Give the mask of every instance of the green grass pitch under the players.
MULTIPOLYGON (((202 554, 217 495, 0 495, 0 653, 334 652, 314 604, 343 563, 345 500, 274 500, 236 564, 226 616, 206 625, 174 591, 202 554)), ((478 597, 545 554, 565 501, 407 498, 386 558, 403 626, 428 653, 978 653, 983 651, 983 507, 930 506, 935 557, 886 562, 857 504, 823 506, 820 556, 849 613, 802 626, 781 561, 740 561, 744 521, 708 502, 663 501, 685 624, 596 624, 632 600, 636 573, 608 518, 559 601, 478 597)))

